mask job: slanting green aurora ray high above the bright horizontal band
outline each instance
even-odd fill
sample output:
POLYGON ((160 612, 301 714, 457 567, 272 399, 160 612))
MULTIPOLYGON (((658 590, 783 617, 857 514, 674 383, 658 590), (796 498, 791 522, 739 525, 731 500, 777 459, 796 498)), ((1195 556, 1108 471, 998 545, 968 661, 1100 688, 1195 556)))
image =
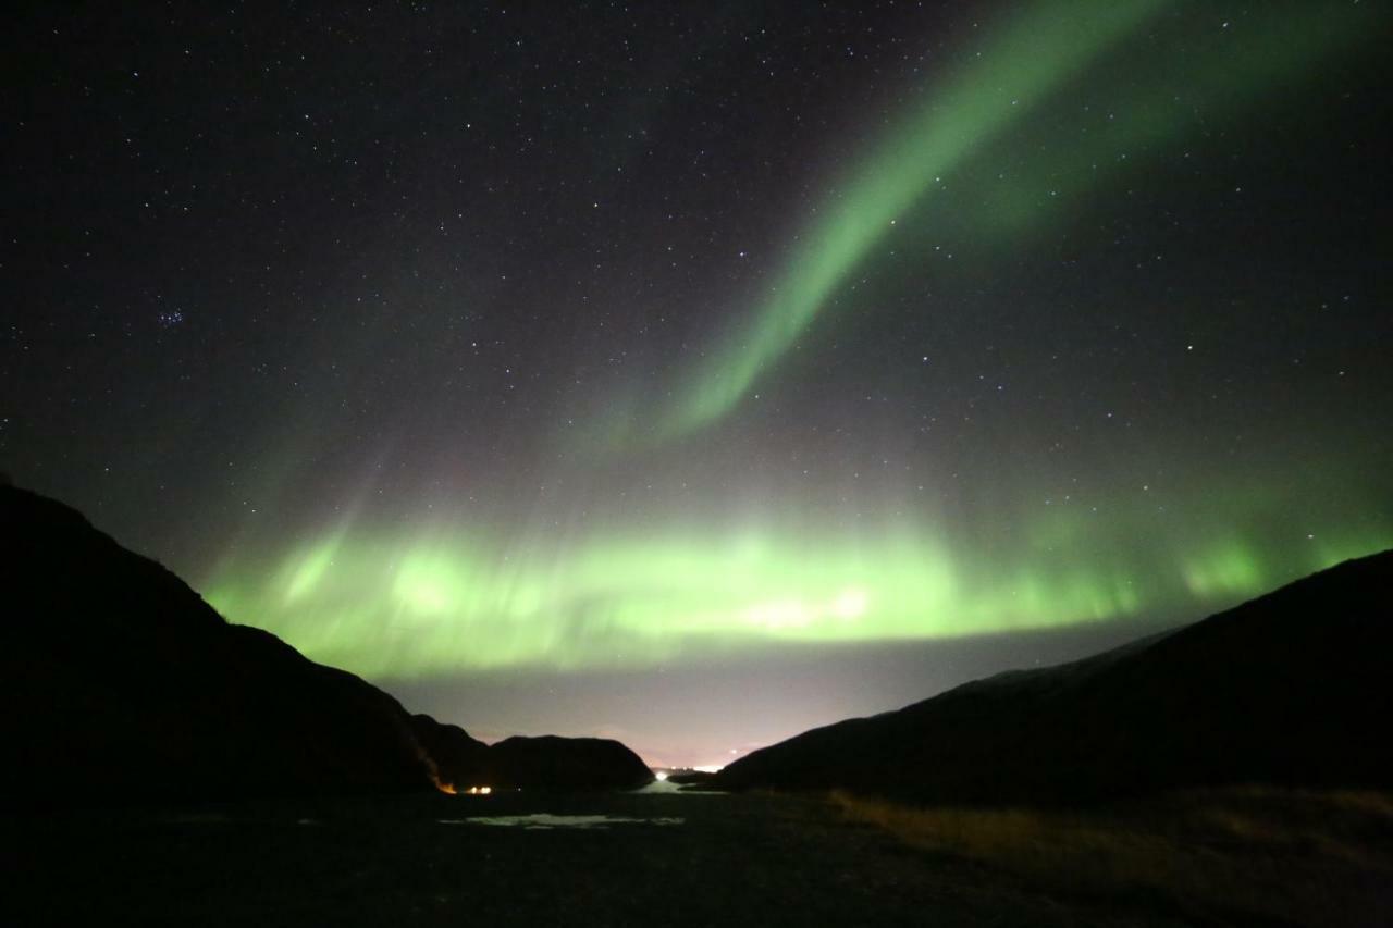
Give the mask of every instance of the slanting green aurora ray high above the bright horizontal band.
MULTIPOLYGON (((844 185, 834 184, 827 202, 812 210, 819 213, 816 222, 790 248, 784 272, 752 312, 751 323, 703 365, 701 376, 657 426, 659 435, 683 435, 730 412, 763 369, 795 344, 846 277, 898 231, 897 216, 911 209, 925 212, 915 222, 922 235, 935 229, 933 212, 951 212, 1007 234, 1018 245, 1011 233, 1034 226, 1035 216, 1050 210, 1061 188, 1066 196, 1078 194, 1068 187, 1080 183, 1082 166, 1088 167, 1082 180, 1088 187, 1106 184, 1110 173, 1130 173, 1134 166, 1124 163, 1127 149, 1192 130, 1198 121, 1195 102, 1223 109, 1231 105, 1229 98, 1279 88, 1284 74, 1337 52, 1340 40, 1348 43, 1360 28, 1357 17, 1332 17, 1329 10, 1309 7, 1273 13, 1273 22, 1259 24, 1259 35, 1237 54, 1231 47, 1215 47, 1181 65, 1167 49, 1151 52, 1131 68, 1142 79, 1155 75, 1160 81, 1155 89, 1138 93, 1102 145, 1081 146, 1087 125, 1055 114, 1049 130, 1055 138, 1038 142, 1038 148, 1063 153, 1061 160, 1035 155, 1036 163, 1025 164, 1022 177, 1002 184, 1006 178, 997 176, 996 183, 978 181, 979 188, 971 188, 970 180, 965 198, 936 206, 926 194, 935 187, 946 191, 963 162, 1000 137, 1007 145, 1018 145, 1011 130, 1028 120, 1035 106, 1048 105, 1052 92, 1077 78, 1094 59, 1124 45, 1128 33, 1153 21, 1165 7, 1155 0, 1127 0, 1096 4, 1088 15, 1078 15, 1078 8, 1070 1, 1027 4, 1018 17, 1004 21, 1000 33, 988 33, 960 74, 925 91, 921 111, 892 123, 868 163, 858 166, 844 185), (926 206, 918 206, 926 199, 926 206)), ((1109 120, 1116 124, 1116 114, 1109 120)))

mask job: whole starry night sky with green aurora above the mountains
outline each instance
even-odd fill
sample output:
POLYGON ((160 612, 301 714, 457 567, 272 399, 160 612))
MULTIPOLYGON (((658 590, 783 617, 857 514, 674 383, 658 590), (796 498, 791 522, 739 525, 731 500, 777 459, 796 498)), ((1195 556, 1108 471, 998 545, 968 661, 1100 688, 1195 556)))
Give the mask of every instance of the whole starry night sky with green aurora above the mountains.
POLYGON ((31 4, 0 468, 490 740, 1089 654, 1393 546, 1390 25, 31 4))

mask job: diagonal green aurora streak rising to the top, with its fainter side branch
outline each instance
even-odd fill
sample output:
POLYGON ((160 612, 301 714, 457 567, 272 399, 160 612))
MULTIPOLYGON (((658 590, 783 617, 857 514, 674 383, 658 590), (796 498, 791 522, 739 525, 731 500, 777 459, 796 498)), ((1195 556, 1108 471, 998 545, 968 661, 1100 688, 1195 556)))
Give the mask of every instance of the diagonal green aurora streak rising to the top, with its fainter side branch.
POLYGON ((609 404, 588 432, 600 453, 667 443, 734 412, 892 238, 926 252, 947 217, 1007 247, 1028 247, 1032 229, 1144 167, 1146 153, 1284 91, 1319 60, 1368 38, 1360 11, 1307 4, 1275 11, 1241 42, 1201 45, 1191 56, 1130 42, 1174 6, 1050 0, 1002 22, 830 188, 744 326, 706 351, 656 407, 632 399, 609 404), (1042 106, 1057 109, 1071 102, 1060 98, 1082 96, 1087 81, 1105 79, 1095 67, 1121 53, 1138 86, 1106 131, 1088 135, 1080 107, 1073 121, 1052 118, 1043 134, 1031 124, 1042 106), (971 162, 997 148, 1031 150, 1025 173, 976 177, 971 162))

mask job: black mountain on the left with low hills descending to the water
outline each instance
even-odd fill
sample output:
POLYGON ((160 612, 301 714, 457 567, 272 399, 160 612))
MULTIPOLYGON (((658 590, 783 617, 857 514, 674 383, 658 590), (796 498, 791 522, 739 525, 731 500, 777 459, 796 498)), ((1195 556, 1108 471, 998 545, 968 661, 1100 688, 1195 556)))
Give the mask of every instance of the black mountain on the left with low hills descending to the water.
POLYGON ((227 623, 75 510, 13 486, 0 486, 0 569, 10 804, 393 793, 495 768, 610 789, 646 773, 592 738, 545 740, 535 768, 511 750, 485 762, 496 748, 227 623))

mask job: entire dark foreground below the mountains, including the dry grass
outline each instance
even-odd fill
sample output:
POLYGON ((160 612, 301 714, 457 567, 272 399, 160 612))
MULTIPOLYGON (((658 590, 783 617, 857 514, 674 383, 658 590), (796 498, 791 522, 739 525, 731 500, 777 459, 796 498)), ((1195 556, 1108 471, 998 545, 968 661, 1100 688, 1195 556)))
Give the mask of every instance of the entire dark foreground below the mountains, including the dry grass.
POLYGON ((1206 846, 1183 856, 1184 867, 1220 861, 1259 883, 1304 875, 1295 890, 1304 908, 1282 914, 1223 888, 1190 893, 1176 883, 1191 878, 1184 871, 1163 872, 1174 849, 1148 844, 1135 815, 1103 835, 1102 819, 1087 830, 1056 818, 1042 830, 1039 821, 992 812, 915 818, 846 798, 670 791, 74 810, 6 822, 18 854, 3 917, 295 927, 1379 924, 1383 888, 1393 885, 1390 808, 1367 800, 1350 811, 1353 832, 1336 822, 1319 833, 1302 833, 1283 812, 1291 840, 1280 872, 1270 842, 1244 836, 1261 815, 1211 829, 1206 846), (478 822, 538 815, 528 821, 549 828, 478 822), (567 817, 588 817, 588 826, 570 828, 567 817), (1332 828, 1344 837, 1330 843, 1332 828), (1100 861, 1117 849, 1135 857, 1138 843, 1146 850, 1137 860, 1160 876, 1106 872, 1100 861), (1059 847, 1070 856, 1053 867, 1031 863, 1059 847), (1311 921, 1311 911, 1329 918, 1311 921))

